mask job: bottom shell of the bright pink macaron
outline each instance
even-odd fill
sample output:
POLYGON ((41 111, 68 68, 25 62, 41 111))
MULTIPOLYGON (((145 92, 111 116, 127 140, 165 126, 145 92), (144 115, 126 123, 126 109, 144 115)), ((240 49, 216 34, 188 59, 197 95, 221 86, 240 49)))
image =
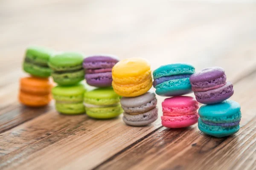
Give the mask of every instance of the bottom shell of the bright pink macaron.
POLYGON ((194 125, 198 122, 198 114, 183 116, 161 116, 162 125, 168 128, 180 128, 194 125))

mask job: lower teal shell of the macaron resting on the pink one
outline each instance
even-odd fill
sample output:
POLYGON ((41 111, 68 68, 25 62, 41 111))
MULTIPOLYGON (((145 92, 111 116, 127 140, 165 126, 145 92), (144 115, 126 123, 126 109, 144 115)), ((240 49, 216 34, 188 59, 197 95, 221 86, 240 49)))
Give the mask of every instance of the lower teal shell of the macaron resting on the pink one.
POLYGON ((155 88, 156 94, 160 96, 180 96, 192 92, 189 78, 169 80, 155 88))

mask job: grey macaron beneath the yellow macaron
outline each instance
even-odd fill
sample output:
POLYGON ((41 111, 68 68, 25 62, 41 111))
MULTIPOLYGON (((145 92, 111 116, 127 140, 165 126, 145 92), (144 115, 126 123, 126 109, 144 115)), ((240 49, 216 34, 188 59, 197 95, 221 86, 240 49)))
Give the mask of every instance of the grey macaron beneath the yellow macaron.
POLYGON ((123 121, 131 126, 144 126, 157 120, 156 95, 148 91, 136 97, 122 97, 123 121))

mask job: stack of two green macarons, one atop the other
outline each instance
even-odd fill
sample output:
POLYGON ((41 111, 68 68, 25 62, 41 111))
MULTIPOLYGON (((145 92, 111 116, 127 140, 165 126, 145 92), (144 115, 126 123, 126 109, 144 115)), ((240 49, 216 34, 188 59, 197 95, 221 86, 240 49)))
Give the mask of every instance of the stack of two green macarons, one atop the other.
POLYGON ((84 79, 82 67, 84 56, 77 52, 55 53, 49 59, 52 78, 58 84, 52 88, 55 108, 62 114, 85 112, 83 94, 86 88, 80 82, 84 79))

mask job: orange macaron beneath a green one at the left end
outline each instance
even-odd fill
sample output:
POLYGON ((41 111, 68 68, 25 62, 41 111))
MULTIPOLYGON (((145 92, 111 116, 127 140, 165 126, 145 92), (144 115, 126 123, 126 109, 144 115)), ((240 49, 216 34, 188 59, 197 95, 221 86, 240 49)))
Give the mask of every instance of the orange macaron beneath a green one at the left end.
POLYGON ((41 107, 51 101, 52 82, 48 78, 23 77, 20 79, 19 101, 23 105, 41 107))

